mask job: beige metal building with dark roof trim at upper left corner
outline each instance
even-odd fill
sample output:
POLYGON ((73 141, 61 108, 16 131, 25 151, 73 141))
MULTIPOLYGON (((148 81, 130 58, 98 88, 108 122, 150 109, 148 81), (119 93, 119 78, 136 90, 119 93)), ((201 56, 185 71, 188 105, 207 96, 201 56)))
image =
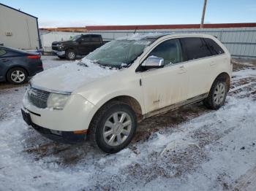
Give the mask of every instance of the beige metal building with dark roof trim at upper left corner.
POLYGON ((37 17, 0 4, 0 44, 24 50, 39 49, 37 17))

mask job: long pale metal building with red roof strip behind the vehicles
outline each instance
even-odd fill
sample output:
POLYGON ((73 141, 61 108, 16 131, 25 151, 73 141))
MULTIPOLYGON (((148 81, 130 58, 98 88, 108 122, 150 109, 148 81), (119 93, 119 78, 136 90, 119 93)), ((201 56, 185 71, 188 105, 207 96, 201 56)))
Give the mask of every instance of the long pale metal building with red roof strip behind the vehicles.
POLYGON ((86 26, 84 28, 42 28, 42 48, 51 51, 53 41, 68 40, 77 34, 101 34, 110 41, 134 33, 201 33, 211 34, 225 44, 233 58, 256 58, 256 23, 220 23, 200 25, 86 26), (80 31, 80 33, 78 33, 80 31))

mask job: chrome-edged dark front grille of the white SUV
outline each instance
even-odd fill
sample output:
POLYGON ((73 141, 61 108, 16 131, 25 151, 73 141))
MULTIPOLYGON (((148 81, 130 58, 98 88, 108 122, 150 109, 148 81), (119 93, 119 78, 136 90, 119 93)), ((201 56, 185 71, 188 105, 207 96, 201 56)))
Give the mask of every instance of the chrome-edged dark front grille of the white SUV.
POLYGON ((29 102, 34 106, 37 106, 42 109, 47 107, 47 100, 49 95, 50 95, 50 92, 39 90, 34 87, 31 87, 28 90, 29 102))

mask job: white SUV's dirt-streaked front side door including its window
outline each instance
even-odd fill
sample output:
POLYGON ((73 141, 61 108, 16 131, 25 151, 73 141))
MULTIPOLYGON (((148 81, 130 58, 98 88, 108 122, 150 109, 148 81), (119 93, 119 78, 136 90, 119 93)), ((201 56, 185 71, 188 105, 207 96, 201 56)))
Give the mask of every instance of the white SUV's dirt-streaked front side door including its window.
POLYGON ((184 58, 179 40, 162 42, 148 54, 151 55, 163 58, 165 67, 141 72, 147 113, 187 99, 187 69, 182 63, 184 58))

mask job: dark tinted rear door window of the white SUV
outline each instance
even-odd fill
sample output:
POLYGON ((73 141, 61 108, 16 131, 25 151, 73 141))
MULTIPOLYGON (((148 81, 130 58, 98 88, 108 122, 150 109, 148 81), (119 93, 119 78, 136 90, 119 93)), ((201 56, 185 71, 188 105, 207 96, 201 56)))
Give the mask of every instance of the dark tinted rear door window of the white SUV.
POLYGON ((206 42, 202 38, 181 38, 181 44, 187 52, 187 61, 211 56, 211 50, 209 50, 206 42))

